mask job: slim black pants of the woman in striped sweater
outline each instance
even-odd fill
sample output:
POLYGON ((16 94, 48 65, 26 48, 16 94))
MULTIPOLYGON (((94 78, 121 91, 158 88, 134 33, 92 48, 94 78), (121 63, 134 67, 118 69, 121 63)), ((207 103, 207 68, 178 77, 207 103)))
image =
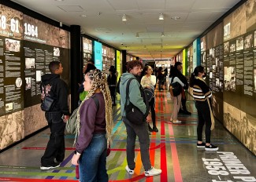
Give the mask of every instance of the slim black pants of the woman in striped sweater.
POLYGON ((210 133, 211 133, 210 126, 212 125, 212 122, 210 118, 210 107, 208 105, 208 102, 207 100, 204 102, 196 101, 195 107, 198 110, 198 128, 197 128, 198 141, 202 141, 202 129, 206 123, 206 128, 205 128, 206 143, 210 144, 210 133))

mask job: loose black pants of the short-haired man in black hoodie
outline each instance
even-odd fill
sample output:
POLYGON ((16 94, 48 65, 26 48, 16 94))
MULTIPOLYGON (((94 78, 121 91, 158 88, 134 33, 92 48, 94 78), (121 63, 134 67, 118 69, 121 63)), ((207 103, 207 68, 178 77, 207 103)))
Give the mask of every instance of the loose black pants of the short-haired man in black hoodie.
POLYGON ((50 140, 41 158, 41 164, 50 166, 54 164, 54 158, 57 162, 62 162, 65 158, 65 122, 61 118, 61 112, 46 112, 45 115, 50 127, 50 140))

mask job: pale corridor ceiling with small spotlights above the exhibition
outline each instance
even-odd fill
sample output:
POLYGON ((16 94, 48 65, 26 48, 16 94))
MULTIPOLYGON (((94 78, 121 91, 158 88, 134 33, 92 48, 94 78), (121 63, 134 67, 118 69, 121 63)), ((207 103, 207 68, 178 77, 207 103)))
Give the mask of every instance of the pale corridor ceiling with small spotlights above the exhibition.
POLYGON ((143 60, 168 60, 239 0, 13 0, 143 60), (159 20, 162 13, 164 20, 159 20), (122 21, 123 16, 126 21, 122 21))

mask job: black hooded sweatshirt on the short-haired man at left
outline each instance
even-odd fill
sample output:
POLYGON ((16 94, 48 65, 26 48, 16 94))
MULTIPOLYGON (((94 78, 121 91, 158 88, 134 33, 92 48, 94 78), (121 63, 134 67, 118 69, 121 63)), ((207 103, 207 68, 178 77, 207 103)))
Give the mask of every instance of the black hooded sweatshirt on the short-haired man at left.
POLYGON ((41 93, 54 99, 52 111, 59 111, 63 115, 69 115, 67 84, 57 74, 45 74, 42 76, 41 93), (44 90, 46 86, 46 90, 44 90))

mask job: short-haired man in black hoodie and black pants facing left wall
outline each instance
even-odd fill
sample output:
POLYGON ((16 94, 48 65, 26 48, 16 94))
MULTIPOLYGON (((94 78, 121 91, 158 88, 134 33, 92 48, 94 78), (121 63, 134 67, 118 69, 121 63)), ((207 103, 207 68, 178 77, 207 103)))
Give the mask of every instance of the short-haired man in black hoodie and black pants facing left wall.
POLYGON ((46 111, 45 116, 50 127, 50 140, 48 141, 46 151, 41 158, 40 169, 54 169, 60 166, 65 158, 65 122, 69 119, 67 84, 60 78, 63 71, 61 63, 52 61, 49 64, 51 74, 42 76, 41 99, 50 96, 54 99, 54 105, 50 111, 46 111), (57 162, 54 162, 56 159, 57 162))

